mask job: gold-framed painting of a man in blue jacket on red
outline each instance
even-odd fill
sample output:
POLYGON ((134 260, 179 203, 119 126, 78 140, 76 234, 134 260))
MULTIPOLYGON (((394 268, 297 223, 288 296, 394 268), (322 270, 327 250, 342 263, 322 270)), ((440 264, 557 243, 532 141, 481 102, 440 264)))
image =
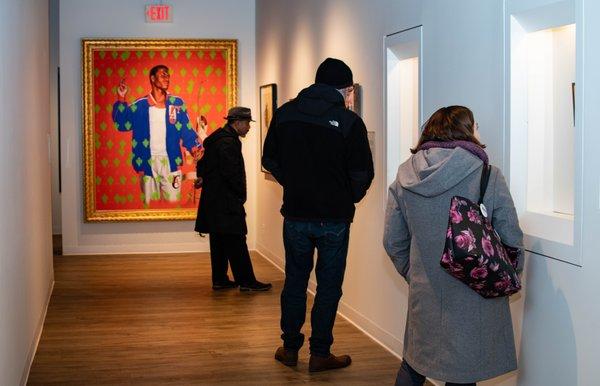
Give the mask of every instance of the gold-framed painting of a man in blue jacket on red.
POLYGON ((237 99, 236 40, 82 40, 85 221, 192 220, 202 139, 237 99))

